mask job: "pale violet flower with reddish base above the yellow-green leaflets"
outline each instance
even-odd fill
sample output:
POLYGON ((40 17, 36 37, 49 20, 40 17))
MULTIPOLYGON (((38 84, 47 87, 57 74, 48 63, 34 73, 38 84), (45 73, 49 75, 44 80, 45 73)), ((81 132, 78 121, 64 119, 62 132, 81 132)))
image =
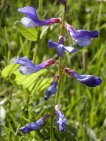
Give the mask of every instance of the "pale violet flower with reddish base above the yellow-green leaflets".
POLYGON ((14 63, 20 64, 21 65, 19 67, 20 73, 27 75, 27 74, 37 72, 41 69, 44 69, 44 68, 56 63, 56 61, 54 59, 49 59, 41 64, 34 65, 28 58, 20 57, 20 58, 17 58, 14 63))

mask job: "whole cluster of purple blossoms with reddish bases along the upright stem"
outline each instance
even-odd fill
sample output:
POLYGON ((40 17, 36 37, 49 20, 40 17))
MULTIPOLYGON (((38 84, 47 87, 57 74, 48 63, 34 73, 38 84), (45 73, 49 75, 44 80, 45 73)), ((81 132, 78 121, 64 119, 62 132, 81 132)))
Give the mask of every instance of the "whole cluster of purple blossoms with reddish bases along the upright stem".
MULTIPOLYGON (((60 3, 63 4, 66 10, 66 0, 58 0, 60 3)), ((21 19, 22 25, 24 25, 27 28, 31 27, 39 27, 39 26, 49 26, 51 24, 62 24, 62 28, 66 29, 69 33, 73 41, 78 44, 80 47, 85 47, 91 44, 92 38, 98 37, 98 31, 87 31, 84 29, 81 30, 75 30, 74 27, 69 25, 68 23, 62 23, 63 21, 60 18, 50 18, 45 20, 39 20, 37 16, 37 11, 33 7, 26 6, 23 8, 19 8, 18 12, 26 15, 26 17, 21 19)), ((61 35, 59 36, 58 42, 54 42, 51 39, 48 41, 48 47, 54 48, 56 50, 56 53, 59 57, 62 57, 64 55, 64 52, 67 51, 69 53, 75 53, 77 49, 73 46, 65 46, 64 45, 64 37, 61 35)), ((45 62, 42 62, 40 64, 33 64, 28 58, 26 57, 20 57, 17 58, 14 62, 15 64, 20 64, 19 71, 23 75, 28 75, 32 73, 36 73, 37 71, 47 68, 52 64, 57 64, 57 61, 55 59, 49 59, 45 62)), ((78 74, 75 70, 72 70, 70 68, 61 68, 61 72, 65 72, 72 77, 74 77, 79 82, 85 84, 88 87, 96 87, 99 84, 101 84, 102 80, 99 77, 93 76, 93 75, 87 75, 87 74, 78 74)), ((64 73, 63 73, 64 74, 64 73)), ((48 100, 53 94, 56 94, 58 89, 58 81, 60 79, 59 76, 54 76, 54 79, 52 83, 49 85, 49 87, 45 91, 44 99, 48 100)), ((65 131, 66 129, 66 118, 64 117, 64 114, 61 112, 61 108, 56 103, 55 105, 55 116, 56 116, 56 123, 59 126, 60 131, 65 131)), ((31 122, 20 128, 20 131, 24 134, 32 131, 37 130, 40 126, 44 124, 46 119, 50 117, 48 115, 43 116, 36 122, 31 122)))

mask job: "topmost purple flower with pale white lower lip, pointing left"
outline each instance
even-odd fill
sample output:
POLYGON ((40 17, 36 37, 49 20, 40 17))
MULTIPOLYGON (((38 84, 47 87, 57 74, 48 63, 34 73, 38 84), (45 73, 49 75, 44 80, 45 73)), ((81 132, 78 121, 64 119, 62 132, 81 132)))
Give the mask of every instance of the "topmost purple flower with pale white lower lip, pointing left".
POLYGON ((21 19, 21 23, 27 28, 61 23, 59 18, 50 18, 46 20, 39 20, 36 9, 30 6, 19 8, 18 12, 26 15, 26 17, 21 19))

